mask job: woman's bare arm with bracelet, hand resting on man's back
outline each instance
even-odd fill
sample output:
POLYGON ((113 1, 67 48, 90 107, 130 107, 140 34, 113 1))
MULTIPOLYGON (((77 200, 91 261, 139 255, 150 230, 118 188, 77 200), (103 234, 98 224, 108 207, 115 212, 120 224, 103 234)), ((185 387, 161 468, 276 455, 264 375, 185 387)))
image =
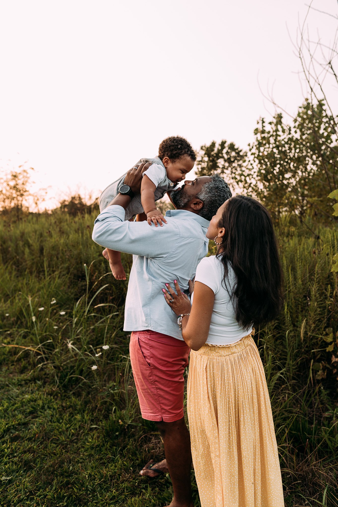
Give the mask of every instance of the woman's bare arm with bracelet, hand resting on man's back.
POLYGON ((168 294, 163 289, 165 300, 176 315, 190 313, 190 316, 184 315, 182 318, 183 340, 192 350, 200 349, 206 343, 209 335, 211 315, 215 301, 214 291, 204 283, 195 282, 194 298, 191 306, 188 296, 182 294, 176 280, 174 280, 174 285, 177 294, 169 284, 165 285, 167 291, 170 292, 168 294))

